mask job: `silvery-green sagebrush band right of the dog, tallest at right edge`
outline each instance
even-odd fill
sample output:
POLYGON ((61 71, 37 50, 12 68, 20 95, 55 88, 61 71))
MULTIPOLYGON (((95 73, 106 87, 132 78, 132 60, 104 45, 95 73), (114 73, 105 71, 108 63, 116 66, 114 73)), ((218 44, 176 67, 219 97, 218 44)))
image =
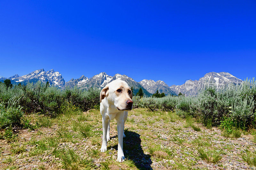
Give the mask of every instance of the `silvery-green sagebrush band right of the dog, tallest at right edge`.
POLYGON ((221 126, 230 134, 233 127, 245 129, 256 124, 256 81, 246 80, 225 90, 208 88, 196 97, 134 97, 133 107, 175 109, 181 117, 199 117, 207 128, 221 126))

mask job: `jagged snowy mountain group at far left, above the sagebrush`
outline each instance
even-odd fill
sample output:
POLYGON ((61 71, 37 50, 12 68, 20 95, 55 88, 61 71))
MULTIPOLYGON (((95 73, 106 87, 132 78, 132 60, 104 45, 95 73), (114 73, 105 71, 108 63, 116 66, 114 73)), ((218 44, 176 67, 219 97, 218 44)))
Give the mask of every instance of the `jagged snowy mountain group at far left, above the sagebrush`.
POLYGON ((59 72, 55 72, 53 69, 49 71, 44 71, 44 69, 40 69, 23 76, 15 74, 14 76, 9 77, 8 79, 11 80, 12 84, 27 84, 28 82, 37 81, 42 81, 46 83, 48 81, 50 86, 58 86, 61 89, 65 87, 65 80, 59 72))

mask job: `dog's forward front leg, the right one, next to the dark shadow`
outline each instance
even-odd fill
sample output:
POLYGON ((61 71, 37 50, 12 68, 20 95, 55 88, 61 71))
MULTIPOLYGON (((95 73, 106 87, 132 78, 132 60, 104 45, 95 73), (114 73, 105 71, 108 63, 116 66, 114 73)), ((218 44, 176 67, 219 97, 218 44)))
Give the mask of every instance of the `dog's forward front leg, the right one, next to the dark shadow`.
POLYGON ((124 162, 123 134, 124 134, 124 120, 117 120, 117 135, 118 135, 117 161, 118 162, 124 162))

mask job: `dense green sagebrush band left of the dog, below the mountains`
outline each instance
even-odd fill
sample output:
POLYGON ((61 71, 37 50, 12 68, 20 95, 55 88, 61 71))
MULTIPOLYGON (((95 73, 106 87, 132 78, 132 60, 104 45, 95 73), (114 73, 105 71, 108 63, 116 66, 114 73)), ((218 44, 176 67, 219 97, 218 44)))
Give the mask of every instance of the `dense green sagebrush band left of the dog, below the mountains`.
POLYGON ((9 105, 20 105, 25 112, 39 112, 52 117, 63 113, 64 107, 73 107, 86 111, 89 108, 99 108, 100 90, 89 89, 87 91, 75 88, 59 89, 38 81, 28 83, 26 86, 15 85, 6 88, 4 83, 0 84, 0 102, 9 105))

